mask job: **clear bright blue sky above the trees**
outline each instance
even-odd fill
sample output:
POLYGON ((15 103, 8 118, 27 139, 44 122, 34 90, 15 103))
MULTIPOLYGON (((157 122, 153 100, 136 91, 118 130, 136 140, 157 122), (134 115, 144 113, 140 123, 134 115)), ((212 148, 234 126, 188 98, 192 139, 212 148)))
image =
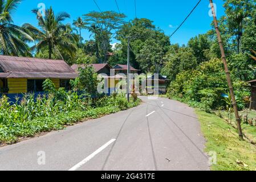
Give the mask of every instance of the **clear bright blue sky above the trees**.
MULTIPOLYGON (((101 11, 117 11, 115 0, 96 0, 101 11)), ((196 5, 198 0, 136 0, 137 18, 148 18, 154 21, 157 27, 170 35, 175 28, 184 20, 186 15, 196 5)), ((97 11, 97 6, 93 0, 23 0, 17 11, 13 14, 14 23, 22 25, 31 23, 36 26, 35 15, 31 13, 39 3, 44 3, 46 7, 52 6, 55 13, 66 11, 71 18, 66 23, 72 23, 78 16, 82 16, 90 11, 97 11)), ((127 15, 127 20, 135 18, 135 6, 133 0, 117 0, 121 13, 127 15)), ((222 0, 214 0, 217 5, 217 16, 224 15, 222 0)), ((185 22, 184 26, 170 39, 171 43, 186 44, 190 38, 198 34, 204 34, 210 29, 212 17, 209 16, 209 1, 202 0, 200 5, 185 22)), ((83 37, 89 39, 90 34, 83 30, 83 37)), ((112 40, 115 43, 116 40, 112 40)))

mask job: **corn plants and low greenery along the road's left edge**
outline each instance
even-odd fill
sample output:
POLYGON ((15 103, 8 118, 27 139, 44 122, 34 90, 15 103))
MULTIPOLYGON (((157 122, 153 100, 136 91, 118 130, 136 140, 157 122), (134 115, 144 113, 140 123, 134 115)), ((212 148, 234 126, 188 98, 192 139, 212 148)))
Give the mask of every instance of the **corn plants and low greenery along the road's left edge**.
POLYGON ((36 133, 60 130, 67 125, 88 118, 139 105, 139 100, 128 102, 124 95, 105 96, 92 100, 76 92, 55 90, 49 80, 44 82, 48 96, 25 95, 21 101, 10 103, 6 96, 0 98, 0 145, 17 142, 19 137, 32 137, 36 133))

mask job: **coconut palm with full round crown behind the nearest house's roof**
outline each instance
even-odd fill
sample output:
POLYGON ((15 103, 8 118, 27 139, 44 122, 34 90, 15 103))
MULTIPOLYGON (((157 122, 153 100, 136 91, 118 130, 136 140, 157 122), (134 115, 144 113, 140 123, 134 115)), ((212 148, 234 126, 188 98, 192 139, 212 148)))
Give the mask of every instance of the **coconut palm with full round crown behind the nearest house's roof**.
MULTIPOLYGON (((70 18, 67 13, 54 14, 52 7, 45 11, 45 16, 39 13, 38 9, 32 10, 32 13, 36 15, 38 19, 38 26, 36 28, 29 23, 23 24, 23 27, 29 30, 36 40, 35 46, 32 46, 32 50, 39 52, 44 48, 48 48, 48 58, 51 59, 53 51, 62 56, 62 51, 75 52, 76 46, 71 39, 63 37, 63 32, 67 30, 67 26, 63 24, 63 20, 70 18)), ((62 56, 63 57, 63 56, 62 56)))

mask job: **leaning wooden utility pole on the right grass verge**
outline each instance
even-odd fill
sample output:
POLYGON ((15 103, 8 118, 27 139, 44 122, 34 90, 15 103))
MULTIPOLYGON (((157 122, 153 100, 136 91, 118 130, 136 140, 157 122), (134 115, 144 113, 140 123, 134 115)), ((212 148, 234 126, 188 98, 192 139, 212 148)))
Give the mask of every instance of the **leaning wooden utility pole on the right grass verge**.
POLYGON ((214 10, 214 5, 213 5, 213 1, 212 0, 210 0, 210 6, 212 7, 214 27, 215 27, 216 34, 217 34, 218 43, 220 44, 221 58, 222 58, 222 61, 223 61, 223 64, 224 64, 224 68, 225 68, 225 72, 226 72, 226 77, 227 77, 227 84, 229 85, 230 96, 231 96, 231 99, 232 99, 232 102, 233 102, 235 119, 237 121, 238 134, 239 134, 239 138, 243 139, 241 121, 240 121, 240 117, 239 117, 238 109, 237 109, 237 101, 235 101, 234 88, 233 88, 233 84, 232 84, 232 81, 231 81, 229 68, 227 68, 227 61, 226 61, 225 51, 224 51, 224 47, 223 47, 223 44, 222 44, 221 33, 220 33, 219 28, 218 28, 218 21, 217 21, 217 18, 216 18, 216 12, 214 10))

